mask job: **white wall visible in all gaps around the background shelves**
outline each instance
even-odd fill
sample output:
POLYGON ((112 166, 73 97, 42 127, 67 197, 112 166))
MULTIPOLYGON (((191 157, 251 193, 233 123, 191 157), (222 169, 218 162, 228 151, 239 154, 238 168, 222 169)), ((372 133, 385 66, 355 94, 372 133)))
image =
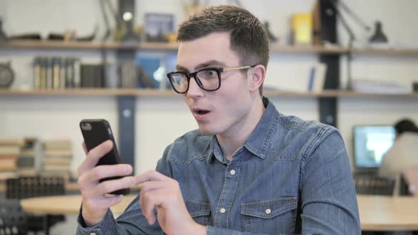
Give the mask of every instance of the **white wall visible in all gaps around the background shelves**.
MULTIPOLYGON (((115 1, 112 1, 115 6, 115 1)), ((184 17, 180 0, 137 0, 135 22, 142 23, 146 12, 174 13, 176 24, 184 17), (164 6, 164 7, 162 7, 164 6)), ((208 1, 209 4, 227 4, 230 1, 208 1)), ((233 2, 233 1, 231 1, 233 2)), ((252 11, 261 21, 270 21, 271 30, 282 42, 289 35, 289 17, 296 11, 310 11, 313 0, 251 1, 242 0, 242 5, 252 11)), ((414 0, 344 0, 366 22, 373 23, 379 18, 383 21, 387 33, 394 45, 412 45, 418 47, 418 32, 412 30, 418 14, 414 13, 418 2, 414 0), (400 43, 402 42, 402 43, 400 43)), ((60 33, 65 28, 77 30, 79 35, 91 32, 94 25, 103 32, 103 18, 98 1, 94 0, 0 0, 0 16, 4 18, 6 33, 18 34, 40 32, 60 33)), ((368 38, 351 22, 358 38, 358 44, 368 38)), ((112 20, 113 23, 113 20, 112 20)), ((346 33, 339 27, 341 41, 346 43, 346 33)), ((25 86, 32 81, 30 62, 35 55, 80 56, 84 62, 99 61, 100 54, 94 50, 0 50, 0 61, 12 59, 16 72, 13 88, 25 86)), ((110 55, 110 59, 114 59, 110 55)), ((271 56, 267 81, 281 84, 283 88, 304 90, 307 74, 317 55, 280 55, 271 56)), ((417 79, 418 57, 375 57, 356 56, 353 62, 353 77, 400 81, 408 84, 417 79)), ((346 68, 341 68, 341 84, 346 82, 346 68)), ((308 120, 318 120, 315 98, 273 98, 273 103, 281 113, 299 115, 308 120)), ((416 99, 397 98, 341 98, 339 101, 339 129, 347 149, 351 154, 351 126, 355 124, 381 123, 392 124, 400 117, 412 117, 418 122, 416 99)), ((164 147, 184 132, 197 127, 180 98, 137 98, 136 113, 136 168, 137 173, 154 168, 164 147), (174 125, 173 125, 174 124, 174 125)), ((82 118, 101 117, 113 124, 117 133, 115 99, 97 98, 47 98, 1 96, 0 98, 0 136, 36 135, 52 137, 67 135, 73 140, 75 157, 73 169, 84 158, 81 151, 81 134, 78 122, 82 118)))

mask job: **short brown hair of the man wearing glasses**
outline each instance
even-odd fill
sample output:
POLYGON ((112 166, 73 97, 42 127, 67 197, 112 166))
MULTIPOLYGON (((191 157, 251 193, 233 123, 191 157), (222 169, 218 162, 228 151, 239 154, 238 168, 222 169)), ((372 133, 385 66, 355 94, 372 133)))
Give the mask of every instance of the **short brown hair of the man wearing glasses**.
MULTIPOLYGON (((249 11, 237 6, 210 6, 190 16, 179 26, 177 40, 188 41, 210 33, 230 33, 231 50, 242 65, 269 63, 269 39, 264 25, 249 11)), ((259 88, 262 94, 263 86, 259 88)))

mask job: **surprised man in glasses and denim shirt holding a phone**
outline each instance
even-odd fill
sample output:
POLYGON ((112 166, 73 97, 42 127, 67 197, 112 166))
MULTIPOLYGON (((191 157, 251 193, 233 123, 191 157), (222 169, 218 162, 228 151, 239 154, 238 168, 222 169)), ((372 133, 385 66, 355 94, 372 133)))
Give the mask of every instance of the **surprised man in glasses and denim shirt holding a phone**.
POLYGON ((269 61, 263 25, 234 6, 205 8, 180 25, 177 71, 167 74, 198 122, 169 145, 157 171, 79 166, 78 234, 359 234, 356 192, 334 128, 278 113, 261 86, 269 61), (140 184, 115 221, 103 195, 140 184))

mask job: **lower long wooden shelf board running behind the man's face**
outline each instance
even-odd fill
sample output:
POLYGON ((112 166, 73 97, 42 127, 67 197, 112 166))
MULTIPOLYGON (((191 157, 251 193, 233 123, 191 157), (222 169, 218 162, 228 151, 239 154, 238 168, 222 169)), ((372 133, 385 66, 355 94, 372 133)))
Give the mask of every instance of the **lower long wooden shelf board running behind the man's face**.
MULTIPOLYGON (((297 91, 264 91, 268 97, 312 97, 312 98, 333 98, 333 97, 358 97, 358 98, 418 98, 418 92, 408 94, 375 94, 359 93, 354 91, 325 90, 320 93, 297 92, 297 91)), ((180 97, 171 90, 154 89, 67 89, 59 91, 18 91, 0 89, 0 96, 144 96, 144 97, 180 97)))

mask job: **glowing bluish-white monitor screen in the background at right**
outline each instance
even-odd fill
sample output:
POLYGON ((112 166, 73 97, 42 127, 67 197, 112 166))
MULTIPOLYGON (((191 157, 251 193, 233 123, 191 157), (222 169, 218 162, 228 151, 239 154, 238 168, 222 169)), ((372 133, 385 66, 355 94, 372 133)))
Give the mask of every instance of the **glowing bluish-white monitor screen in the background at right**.
POLYGON ((356 168, 378 168, 383 155, 395 141, 395 127, 389 125, 354 126, 354 164, 356 168))

